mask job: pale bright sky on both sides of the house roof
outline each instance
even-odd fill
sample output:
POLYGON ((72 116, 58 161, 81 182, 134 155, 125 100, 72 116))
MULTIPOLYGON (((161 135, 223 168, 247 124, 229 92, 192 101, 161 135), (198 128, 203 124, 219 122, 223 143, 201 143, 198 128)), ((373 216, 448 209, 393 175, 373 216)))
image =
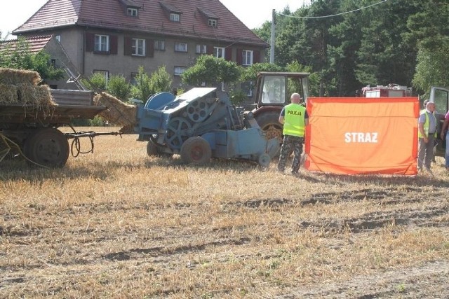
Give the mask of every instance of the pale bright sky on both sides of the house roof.
MULTIPOLYGON (((0 32, 5 37, 25 23, 47 0, 1 0, 0 32)), ((260 27, 265 21, 272 20, 273 9, 283 11, 286 6, 296 11, 304 0, 220 0, 229 11, 234 13, 248 28, 260 27)), ((8 36, 13 39, 15 36, 8 36)))

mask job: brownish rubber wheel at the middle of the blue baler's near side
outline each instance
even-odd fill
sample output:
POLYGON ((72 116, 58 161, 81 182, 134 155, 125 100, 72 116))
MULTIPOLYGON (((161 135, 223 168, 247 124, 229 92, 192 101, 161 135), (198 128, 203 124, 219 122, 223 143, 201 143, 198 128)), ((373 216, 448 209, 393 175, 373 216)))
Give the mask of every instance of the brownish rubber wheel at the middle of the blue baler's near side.
POLYGON ((206 139, 190 137, 181 146, 181 160, 189 164, 204 164, 210 161, 212 150, 206 139))

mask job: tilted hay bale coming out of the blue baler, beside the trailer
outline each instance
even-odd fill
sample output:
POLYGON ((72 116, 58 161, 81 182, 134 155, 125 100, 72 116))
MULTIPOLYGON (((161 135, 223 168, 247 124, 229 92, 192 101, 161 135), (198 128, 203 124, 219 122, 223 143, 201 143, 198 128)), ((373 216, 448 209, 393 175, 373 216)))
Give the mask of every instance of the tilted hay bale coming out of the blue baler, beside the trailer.
POLYGON ((107 106, 108 109, 102 111, 99 116, 109 121, 109 123, 121 125, 123 126, 123 130, 127 130, 126 128, 136 125, 137 106, 125 104, 106 92, 95 95, 93 100, 96 104, 107 106))

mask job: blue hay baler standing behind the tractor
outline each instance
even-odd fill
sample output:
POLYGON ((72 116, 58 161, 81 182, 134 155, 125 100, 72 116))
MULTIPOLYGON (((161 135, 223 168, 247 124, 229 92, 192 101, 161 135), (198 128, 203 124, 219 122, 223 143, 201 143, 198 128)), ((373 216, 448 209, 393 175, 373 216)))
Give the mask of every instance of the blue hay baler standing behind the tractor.
POLYGON ((279 141, 265 138, 252 113, 216 88, 192 88, 177 97, 159 92, 138 106, 136 124, 148 155, 179 154, 189 164, 225 158, 267 167, 279 150, 279 141))

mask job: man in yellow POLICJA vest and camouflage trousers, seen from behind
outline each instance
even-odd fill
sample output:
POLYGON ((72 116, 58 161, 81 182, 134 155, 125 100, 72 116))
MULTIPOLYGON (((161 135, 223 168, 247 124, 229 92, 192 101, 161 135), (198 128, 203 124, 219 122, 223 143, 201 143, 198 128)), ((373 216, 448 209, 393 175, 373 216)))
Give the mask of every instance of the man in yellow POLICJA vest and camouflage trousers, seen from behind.
POLYGON ((304 106, 300 105, 301 96, 293 93, 290 97, 291 104, 283 107, 279 116, 279 123, 283 124, 283 141, 281 155, 279 156, 279 172, 286 170, 288 156, 293 151, 292 174, 299 174, 304 143, 305 127, 309 123, 309 116, 304 106))

